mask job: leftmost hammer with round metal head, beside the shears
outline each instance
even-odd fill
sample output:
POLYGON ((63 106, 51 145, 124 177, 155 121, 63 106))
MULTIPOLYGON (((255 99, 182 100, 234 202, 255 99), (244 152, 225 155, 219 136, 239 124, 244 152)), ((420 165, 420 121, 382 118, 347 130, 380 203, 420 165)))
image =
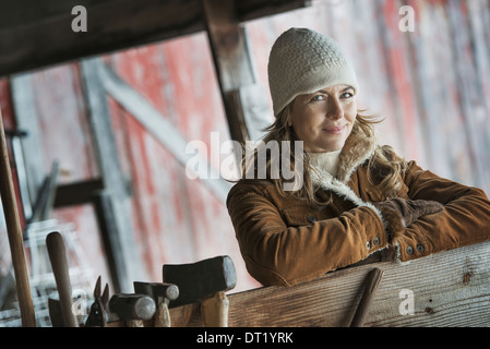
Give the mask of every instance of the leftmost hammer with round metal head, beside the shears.
POLYGON ((128 327, 143 327, 155 314, 155 301, 144 294, 117 293, 110 298, 109 311, 126 321, 128 327))

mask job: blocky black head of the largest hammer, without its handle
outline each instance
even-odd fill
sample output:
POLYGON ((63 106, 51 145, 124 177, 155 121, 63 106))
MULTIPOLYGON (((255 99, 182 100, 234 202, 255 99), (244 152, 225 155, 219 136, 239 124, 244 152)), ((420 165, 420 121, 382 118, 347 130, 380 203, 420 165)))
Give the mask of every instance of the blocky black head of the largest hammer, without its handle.
POLYGON ((225 255, 190 264, 166 264, 164 282, 179 287, 179 298, 169 304, 175 308, 232 289, 237 285, 237 274, 234 262, 225 255))

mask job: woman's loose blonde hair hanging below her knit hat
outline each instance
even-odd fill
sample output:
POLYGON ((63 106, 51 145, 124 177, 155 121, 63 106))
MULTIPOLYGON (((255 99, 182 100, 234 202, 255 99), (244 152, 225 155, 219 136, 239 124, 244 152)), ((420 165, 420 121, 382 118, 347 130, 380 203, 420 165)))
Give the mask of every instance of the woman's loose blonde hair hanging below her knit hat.
MULTIPOLYGON (((299 141, 296 136, 291 127, 288 125, 288 121, 290 118, 292 103, 286 106, 278 115, 273 124, 266 128, 266 135, 263 139, 263 144, 267 144, 267 142, 276 141, 282 142, 286 141, 290 149, 294 151, 295 141, 299 141)), ((374 137, 374 124, 380 123, 382 120, 379 120, 375 116, 364 116, 361 115, 362 110, 359 110, 354 122, 352 133, 354 134, 363 134, 367 137, 374 137)), ((290 167, 291 171, 295 171, 296 161, 302 161, 303 165, 303 177, 302 177, 302 185, 300 185, 295 191, 285 191, 284 182, 285 179, 283 176, 278 178, 273 178, 271 176, 271 164, 272 158, 267 158, 266 161, 266 179, 271 181, 277 191, 283 195, 292 195, 294 197, 306 200, 312 207, 322 207, 327 205, 332 201, 332 195, 328 196, 326 201, 321 201, 315 195, 318 185, 313 182, 311 172, 314 170, 309 164, 309 154, 307 152, 302 152, 302 159, 296 158, 296 152, 289 152, 290 154, 290 167)), ((253 156, 253 165, 254 170, 258 170, 256 156, 258 152, 255 149, 252 153, 253 156)), ((247 172, 246 167, 242 163, 242 174, 247 172)), ((405 171, 407 167, 407 163, 404 158, 402 158, 393 147, 391 146, 377 146, 374 149, 374 154, 368 161, 368 179, 372 185, 378 186, 383 195, 387 198, 395 197, 398 190, 402 188, 403 181, 401 179, 402 173, 405 171)), ((256 177, 254 177, 256 178, 256 177)))

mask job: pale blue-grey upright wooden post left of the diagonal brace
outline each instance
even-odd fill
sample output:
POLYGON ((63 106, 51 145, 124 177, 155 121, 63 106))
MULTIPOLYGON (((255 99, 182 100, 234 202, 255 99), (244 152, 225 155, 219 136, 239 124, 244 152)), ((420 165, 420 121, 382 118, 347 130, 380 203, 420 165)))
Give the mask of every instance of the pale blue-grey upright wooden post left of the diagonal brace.
MULTIPOLYGON (((105 215, 111 220, 107 239, 110 241, 113 266, 117 268, 119 281, 119 285, 115 287, 121 292, 131 292, 134 279, 144 278, 144 269, 135 248, 127 181, 118 160, 118 149, 106 93, 99 79, 99 69, 98 58, 82 61, 83 84, 89 110, 88 119, 107 198, 104 204, 105 215)), ((103 237, 103 239, 106 238, 103 237)))

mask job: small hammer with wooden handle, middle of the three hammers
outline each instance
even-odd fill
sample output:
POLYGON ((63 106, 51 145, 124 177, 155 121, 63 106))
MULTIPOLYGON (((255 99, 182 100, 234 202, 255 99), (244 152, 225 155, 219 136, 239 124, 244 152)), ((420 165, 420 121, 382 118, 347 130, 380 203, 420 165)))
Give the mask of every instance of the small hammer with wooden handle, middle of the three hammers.
POLYGON ((179 297, 179 288, 172 284, 134 281, 134 292, 151 297, 156 304, 155 327, 170 327, 168 303, 179 297))

